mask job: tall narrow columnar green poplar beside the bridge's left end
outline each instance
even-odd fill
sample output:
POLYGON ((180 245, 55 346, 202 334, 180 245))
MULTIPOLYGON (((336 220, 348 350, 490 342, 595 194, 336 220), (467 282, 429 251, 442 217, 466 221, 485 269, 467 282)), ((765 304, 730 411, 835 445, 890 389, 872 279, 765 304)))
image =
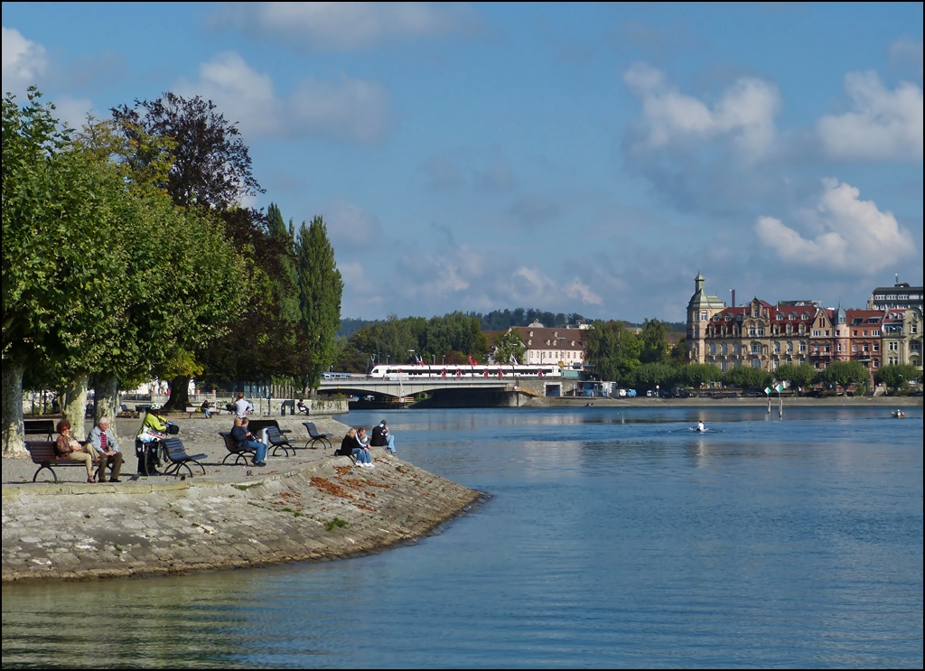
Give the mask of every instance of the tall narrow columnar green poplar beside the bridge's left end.
POLYGON ((320 216, 314 217, 311 226, 302 222, 296 240, 296 259, 300 322, 311 360, 302 385, 314 390, 321 383, 321 373, 337 360, 340 297, 344 287, 334 260, 334 248, 327 239, 327 226, 320 216))

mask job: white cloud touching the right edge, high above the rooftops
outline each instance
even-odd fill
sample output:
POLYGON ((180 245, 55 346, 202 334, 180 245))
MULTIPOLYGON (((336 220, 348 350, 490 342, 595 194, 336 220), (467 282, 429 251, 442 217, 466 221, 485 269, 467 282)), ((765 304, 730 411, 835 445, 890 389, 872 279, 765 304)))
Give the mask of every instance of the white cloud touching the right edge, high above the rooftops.
POLYGON ((836 159, 922 158, 922 89, 901 82, 888 91, 876 72, 845 75, 852 109, 823 116, 817 129, 825 153, 836 159))

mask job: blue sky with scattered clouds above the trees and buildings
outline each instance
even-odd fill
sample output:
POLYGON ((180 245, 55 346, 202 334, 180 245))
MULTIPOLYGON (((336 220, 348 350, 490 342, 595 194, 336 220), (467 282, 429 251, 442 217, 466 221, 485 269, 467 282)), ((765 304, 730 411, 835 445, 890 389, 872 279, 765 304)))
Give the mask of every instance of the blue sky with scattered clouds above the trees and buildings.
POLYGON ((237 122, 342 315, 922 285, 922 4, 3 4, 3 88, 237 122))

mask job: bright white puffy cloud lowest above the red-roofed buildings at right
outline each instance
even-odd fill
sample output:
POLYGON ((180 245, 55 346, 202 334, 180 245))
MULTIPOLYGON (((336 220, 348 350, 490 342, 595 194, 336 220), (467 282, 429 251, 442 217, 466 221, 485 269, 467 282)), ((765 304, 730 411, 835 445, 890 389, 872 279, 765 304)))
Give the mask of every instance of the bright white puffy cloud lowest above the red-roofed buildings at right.
POLYGON ((919 253, 894 215, 881 212, 873 201, 860 200, 858 189, 832 178, 822 185, 816 209, 799 217, 815 237, 804 237, 774 217, 761 216, 756 222, 761 242, 783 261, 871 275, 919 253))

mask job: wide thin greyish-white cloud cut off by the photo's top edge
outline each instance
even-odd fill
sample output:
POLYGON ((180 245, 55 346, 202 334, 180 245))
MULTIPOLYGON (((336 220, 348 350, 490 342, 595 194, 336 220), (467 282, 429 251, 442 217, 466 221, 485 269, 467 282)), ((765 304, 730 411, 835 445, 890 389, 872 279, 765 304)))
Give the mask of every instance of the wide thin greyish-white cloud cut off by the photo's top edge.
POLYGON ((475 10, 460 3, 246 3, 218 21, 314 49, 340 51, 484 30, 475 10))

